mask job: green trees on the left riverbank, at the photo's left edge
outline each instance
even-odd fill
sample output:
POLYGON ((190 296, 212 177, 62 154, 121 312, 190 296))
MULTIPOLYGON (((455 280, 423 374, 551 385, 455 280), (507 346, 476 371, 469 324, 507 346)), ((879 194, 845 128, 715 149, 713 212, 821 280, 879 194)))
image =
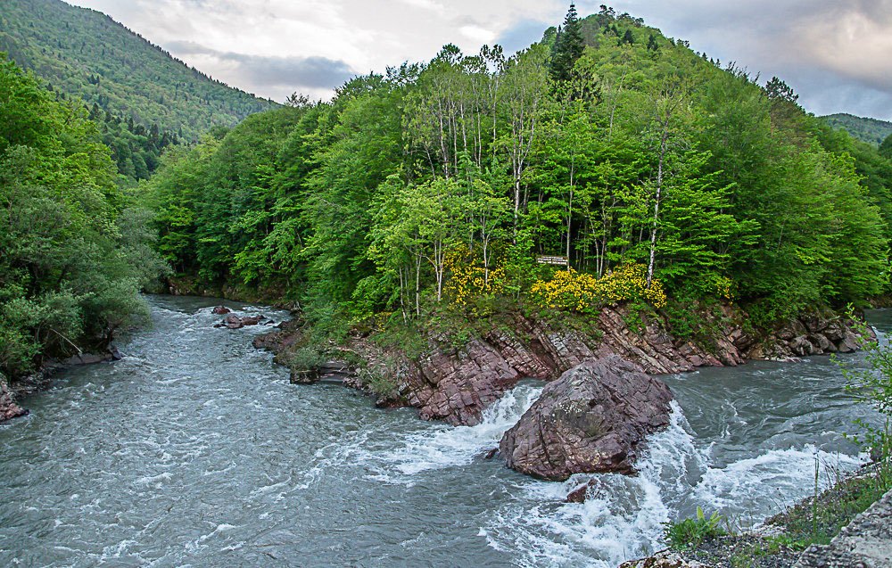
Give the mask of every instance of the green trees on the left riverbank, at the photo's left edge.
POLYGON ((145 315, 139 292, 164 263, 152 212, 118 179, 84 104, 0 59, 0 382, 145 315))

